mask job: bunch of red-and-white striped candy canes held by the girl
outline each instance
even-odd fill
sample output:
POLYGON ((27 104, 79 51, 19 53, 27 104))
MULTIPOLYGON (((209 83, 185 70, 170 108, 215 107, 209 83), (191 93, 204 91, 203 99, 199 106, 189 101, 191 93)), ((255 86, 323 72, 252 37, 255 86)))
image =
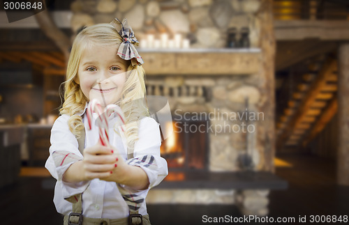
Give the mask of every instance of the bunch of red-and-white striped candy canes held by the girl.
POLYGON ((98 100, 94 99, 89 102, 89 106, 87 107, 87 121, 89 123, 89 130, 92 128, 93 116, 92 114, 97 114, 96 124, 98 126, 99 139, 103 146, 107 146, 109 143, 109 123, 108 117, 114 114, 114 117, 117 116, 119 121, 121 122, 121 130, 124 132, 125 118, 124 113, 121 108, 115 104, 109 104, 102 110, 101 103, 98 100))

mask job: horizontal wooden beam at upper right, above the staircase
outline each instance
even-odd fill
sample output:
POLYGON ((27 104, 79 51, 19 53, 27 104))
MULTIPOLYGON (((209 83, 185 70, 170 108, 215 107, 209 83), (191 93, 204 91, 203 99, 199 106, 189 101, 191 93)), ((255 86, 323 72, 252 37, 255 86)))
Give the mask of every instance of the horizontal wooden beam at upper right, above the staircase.
POLYGON ((274 21, 276 40, 349 40, 348 20, 274 21))

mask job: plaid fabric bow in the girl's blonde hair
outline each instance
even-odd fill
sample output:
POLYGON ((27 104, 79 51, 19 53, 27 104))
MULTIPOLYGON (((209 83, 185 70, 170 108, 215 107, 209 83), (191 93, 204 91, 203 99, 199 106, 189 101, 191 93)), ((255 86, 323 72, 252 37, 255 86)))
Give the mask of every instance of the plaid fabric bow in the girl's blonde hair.
POLYGON ((128 26, 126 18, 122 23, 115 18, 110 24, 117 29, 117 32, 119 32, 121 38, 124 40, 117 50, 117 55, 120 56, 121 59, 131 59, 132 65, 142 65, 144 61, 140 54, 138 54, 137 49, 135 49, 135 46, 138 46, 140 42, 135 38, 135 33, 133 33, 131 26, 128 26))

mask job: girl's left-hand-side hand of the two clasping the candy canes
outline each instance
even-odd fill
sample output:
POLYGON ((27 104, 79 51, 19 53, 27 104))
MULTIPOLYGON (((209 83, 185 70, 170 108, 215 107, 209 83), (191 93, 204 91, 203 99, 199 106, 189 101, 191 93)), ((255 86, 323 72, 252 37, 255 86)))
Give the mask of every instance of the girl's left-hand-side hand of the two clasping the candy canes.
POLYGON ((102 146, 100 143, 85 148, 82 160, 83 180, 109 178, 117 164, 117 157, 113 153, 114 149, 111 146, 102 146))

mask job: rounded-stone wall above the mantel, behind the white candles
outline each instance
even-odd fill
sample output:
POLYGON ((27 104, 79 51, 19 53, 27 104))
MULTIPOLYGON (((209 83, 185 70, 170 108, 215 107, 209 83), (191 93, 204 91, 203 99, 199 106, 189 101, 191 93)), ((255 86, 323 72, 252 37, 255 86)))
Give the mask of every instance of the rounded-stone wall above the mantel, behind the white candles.
POLYGON ((227 31, 235 27, 239 38, 248 27, 251 47, 258 47, 259 24, 255 13, 259 0, 75 0, 71 3, 71 26, 76 33, 82 27, 110 23, 114 17, 128 19, 136 38, 175 33, 188 38, 191 47, 225 47, 227 31))

